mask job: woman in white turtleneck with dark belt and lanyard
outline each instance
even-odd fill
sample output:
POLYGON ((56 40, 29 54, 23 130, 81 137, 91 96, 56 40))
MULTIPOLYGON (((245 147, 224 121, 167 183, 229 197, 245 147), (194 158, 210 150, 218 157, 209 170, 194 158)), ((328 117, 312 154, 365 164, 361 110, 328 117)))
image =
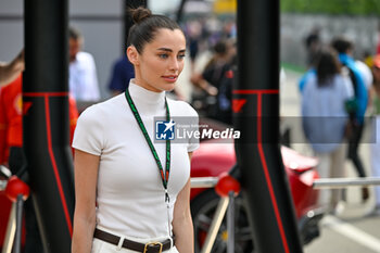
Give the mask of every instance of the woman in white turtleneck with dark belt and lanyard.
POLYGON ((165 98, 183 68, 186 39, 165 16, 143 8, 131 14, 136 78, 124 94, 87 109, 75 131, 73 253, 192 253, 189 159, 199 143, 152 143, 154 117, 198 117, 165 98))

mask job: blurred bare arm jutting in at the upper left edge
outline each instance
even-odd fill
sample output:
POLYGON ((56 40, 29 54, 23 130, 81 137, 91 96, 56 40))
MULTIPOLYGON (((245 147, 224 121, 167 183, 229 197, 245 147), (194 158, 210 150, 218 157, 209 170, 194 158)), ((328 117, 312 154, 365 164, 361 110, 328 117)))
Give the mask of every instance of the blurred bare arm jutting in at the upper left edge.
POLYGON ((24 50, 12 62, 0 62, 0 87, 11 84, 24 71, 24 50))

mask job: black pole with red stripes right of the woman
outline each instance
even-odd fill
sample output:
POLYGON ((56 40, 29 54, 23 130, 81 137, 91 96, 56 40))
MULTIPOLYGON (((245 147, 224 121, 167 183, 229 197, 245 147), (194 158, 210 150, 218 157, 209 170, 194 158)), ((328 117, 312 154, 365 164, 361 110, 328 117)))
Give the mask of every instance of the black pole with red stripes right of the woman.
POLYGON ((257 252, 302 252, 279 147, 279 0, 238 0, 233 90, 242 193, 257 252))

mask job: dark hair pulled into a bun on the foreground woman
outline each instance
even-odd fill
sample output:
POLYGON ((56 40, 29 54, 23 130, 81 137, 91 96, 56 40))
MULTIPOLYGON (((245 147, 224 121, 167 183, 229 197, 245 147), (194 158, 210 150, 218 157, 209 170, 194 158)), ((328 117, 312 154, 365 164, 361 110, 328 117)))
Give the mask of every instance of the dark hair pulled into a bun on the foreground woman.
POLYGON ((147 8, 139 7, 137 9, 130 9, 129 12, 135 24, 129 29, 127 46, 135 46, 140 54, 144 45, 154 39, 155 33, 159 29, 181 30, 176 22, 167 16, 152 14, 147 8))

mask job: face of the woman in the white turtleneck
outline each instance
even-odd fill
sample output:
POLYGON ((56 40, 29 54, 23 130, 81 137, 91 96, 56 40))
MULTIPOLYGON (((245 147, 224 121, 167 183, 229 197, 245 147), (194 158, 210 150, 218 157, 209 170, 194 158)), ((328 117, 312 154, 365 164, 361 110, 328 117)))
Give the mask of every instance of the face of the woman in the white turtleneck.
POLYGON ((186 39, 181 30, 161 28, 145 43, 141 54, 129 47, 127 54, 135 65, 136 84, 155 92, 170 91, 183 69, 186 39))

